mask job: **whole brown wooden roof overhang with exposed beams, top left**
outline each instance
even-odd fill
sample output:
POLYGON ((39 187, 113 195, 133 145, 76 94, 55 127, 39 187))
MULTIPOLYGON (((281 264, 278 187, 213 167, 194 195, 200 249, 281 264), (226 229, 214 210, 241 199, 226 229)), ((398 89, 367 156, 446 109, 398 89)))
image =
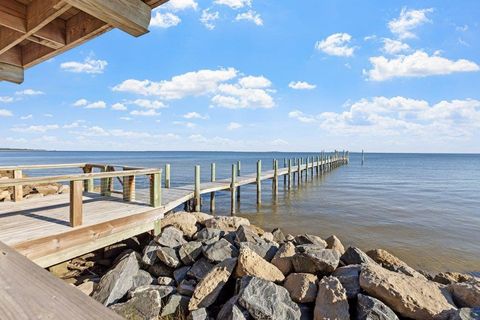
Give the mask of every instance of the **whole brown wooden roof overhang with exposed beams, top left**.
POLYGON ((0 0, 0 80, 22 83, 25 68, 112 28, 143 35, 167 1, 0 0))

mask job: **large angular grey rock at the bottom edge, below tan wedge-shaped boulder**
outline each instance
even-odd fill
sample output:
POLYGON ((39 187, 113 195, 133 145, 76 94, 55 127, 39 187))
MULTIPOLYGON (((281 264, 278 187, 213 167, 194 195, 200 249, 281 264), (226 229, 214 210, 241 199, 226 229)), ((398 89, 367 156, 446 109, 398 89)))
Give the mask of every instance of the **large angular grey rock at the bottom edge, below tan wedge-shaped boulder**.
POLYGON ((238 303, 254 319, 300 320, 301 312, 287 289, 270 281, 253 277, 240 292, 238 303))

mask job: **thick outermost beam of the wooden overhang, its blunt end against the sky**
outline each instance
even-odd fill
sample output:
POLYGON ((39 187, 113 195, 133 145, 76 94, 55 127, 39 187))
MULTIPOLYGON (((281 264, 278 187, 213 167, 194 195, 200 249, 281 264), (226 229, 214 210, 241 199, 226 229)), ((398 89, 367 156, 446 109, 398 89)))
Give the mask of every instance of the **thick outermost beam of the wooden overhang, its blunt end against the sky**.
POLYGON ((109 25, 133 36, 148 32, 152 8, 141 0, 65 0, 109 25))

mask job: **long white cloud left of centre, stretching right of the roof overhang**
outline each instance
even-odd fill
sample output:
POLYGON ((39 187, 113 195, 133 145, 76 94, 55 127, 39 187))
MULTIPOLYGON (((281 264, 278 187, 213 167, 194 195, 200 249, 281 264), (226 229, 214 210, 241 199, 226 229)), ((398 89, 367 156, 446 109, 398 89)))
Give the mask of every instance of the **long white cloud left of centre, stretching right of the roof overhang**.
POLYGON ((199 96, 214 92, 218 84, 237 76, 234 68, 218 70, 199 70, 172 77, 170 80, 154 82, 150 80, 125 80, 113 90, 141 95, 154 95, 163 99, 182 99, 187 96, 199 96))

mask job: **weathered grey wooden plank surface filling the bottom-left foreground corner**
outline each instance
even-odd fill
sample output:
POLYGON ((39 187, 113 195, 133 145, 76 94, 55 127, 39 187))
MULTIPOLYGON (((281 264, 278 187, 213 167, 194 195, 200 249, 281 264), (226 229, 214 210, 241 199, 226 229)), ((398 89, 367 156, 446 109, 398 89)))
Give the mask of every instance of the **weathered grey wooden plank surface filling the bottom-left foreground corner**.
POLYGON ((2 242, 0 283, 3 320, 123 319, 2 242))

